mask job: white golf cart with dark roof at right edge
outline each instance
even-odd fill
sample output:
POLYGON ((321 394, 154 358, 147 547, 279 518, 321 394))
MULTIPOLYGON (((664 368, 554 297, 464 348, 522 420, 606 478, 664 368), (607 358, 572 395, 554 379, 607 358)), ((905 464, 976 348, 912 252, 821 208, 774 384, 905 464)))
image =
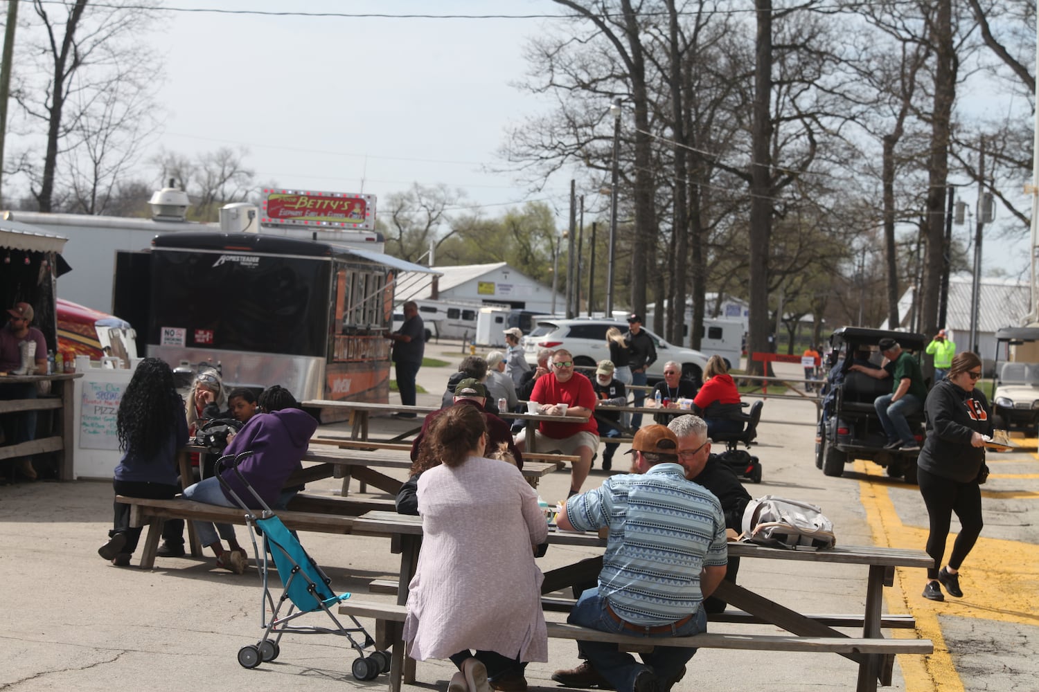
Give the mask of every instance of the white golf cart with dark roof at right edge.
POLYGON ((1004 327, 995 332, 992 390, 992 425, 997 430, 1035 432, 1039 424, 1039 363, 1000 364, 1002 343, 1018 345, 1039 341, 1039 328, 1004 327))

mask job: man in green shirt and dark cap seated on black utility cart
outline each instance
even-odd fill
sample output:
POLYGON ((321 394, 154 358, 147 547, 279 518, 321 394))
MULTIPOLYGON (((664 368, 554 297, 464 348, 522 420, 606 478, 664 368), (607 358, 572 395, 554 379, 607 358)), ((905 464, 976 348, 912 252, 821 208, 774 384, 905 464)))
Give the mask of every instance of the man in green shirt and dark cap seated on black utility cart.
POLYGON ((871 370, 861 365, 852 365, 849 369, 864 372, 877 380, 891 378, 891 393, 878 396, 873 403, 880 417, 880 424, 887 435, 884 449, 920 451, 920 443, 913 437, 906 418, 924 410, 924 399, 927 398, 924 373, 916 359, 903 351, 895 339, 880 339, 879 345, 885 358, 882 369, 871 370))

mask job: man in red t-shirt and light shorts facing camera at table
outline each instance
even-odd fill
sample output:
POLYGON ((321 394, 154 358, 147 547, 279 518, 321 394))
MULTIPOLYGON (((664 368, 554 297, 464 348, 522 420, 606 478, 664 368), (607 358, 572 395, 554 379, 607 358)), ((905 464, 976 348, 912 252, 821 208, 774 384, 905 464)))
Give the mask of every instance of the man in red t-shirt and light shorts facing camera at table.
POLYGON ((540 451, 576 454, 580 460, 570 467, 570 495, 581 492, 588 477, 591 460, 598 449, 598 425, 595 424, 595 390, 591 381, 574 369, 574 356, 565 349, 552 354, 550 371, 537 379, 530 400, 541 405, 549 416, 580 417, 583 422, 541 421, 534 431, 540 451), (562 406, 565 405, 565 412, 562 406))

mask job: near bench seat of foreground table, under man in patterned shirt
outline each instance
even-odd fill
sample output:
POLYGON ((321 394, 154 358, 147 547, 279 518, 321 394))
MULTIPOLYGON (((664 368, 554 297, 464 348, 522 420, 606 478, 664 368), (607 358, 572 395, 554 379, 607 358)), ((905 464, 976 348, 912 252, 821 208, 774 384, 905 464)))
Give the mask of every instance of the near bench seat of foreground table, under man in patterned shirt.
MULTIPOLYGON (((400 640, 401 624, 407 615, 407 607, 390 603, 374 603, 350 599, 340 604, 339 612, 354 617, 370 617, 375 620, 376 646, 393 646, 390 668, 390 690, 400 690, 402 676, 405 683, 414 683, 414 661, 404 661, 404 645, 400 640), (405 671, 405 665, 408 668, 405 671)), ((735 613, 734 613, 735 614, 735 613)), ((821 616, 855 619, 854 615, 821 616)), ((861 618, 858 618, 859 622, 861 618)), ((896 617, 899 627, 906 627, 905 618, 896 617)), ((927 655, 934 652, 930 639, 884 639, 880 637, 805 637, 792 634, 731 634, 704 632, 691 637, 654 638, 601 632, 568 622, 548 622, 549 637, 600 641, 617 644, 625 652, 646 653, 657 643, 666 641, 668 646, 689 646, 694 648, 728 648, 764 652, 834 653, 849 657, 880 656, 883 658, 882 673, 889 677, 897 654, 927 655), (651 643, 650 643, 651 642, 651 643)), ((911 626, 909 626, 911 627, 911 626)))

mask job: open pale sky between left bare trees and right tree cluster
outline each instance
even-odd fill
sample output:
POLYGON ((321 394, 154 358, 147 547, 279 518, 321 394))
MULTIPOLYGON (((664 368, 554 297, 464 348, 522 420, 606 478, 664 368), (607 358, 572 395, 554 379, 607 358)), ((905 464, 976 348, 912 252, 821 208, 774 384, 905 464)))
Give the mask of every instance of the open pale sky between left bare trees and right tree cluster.
MULTIPOLYGON (((388 15, 553 15, 548 0, 167 0, 220 7, 388 15)), ((494 172, 510 127, 545 108, 513 86, 540 19, 263 17, 168 12, 154 35, 167 150, 248 149, 260 183, 380 198, 414 183, 461 188, 498 215, 527 200, 563 207, 568 181, 532 193, 494 172)), ((607 108, 609 104, 604 104, 607 108)))

